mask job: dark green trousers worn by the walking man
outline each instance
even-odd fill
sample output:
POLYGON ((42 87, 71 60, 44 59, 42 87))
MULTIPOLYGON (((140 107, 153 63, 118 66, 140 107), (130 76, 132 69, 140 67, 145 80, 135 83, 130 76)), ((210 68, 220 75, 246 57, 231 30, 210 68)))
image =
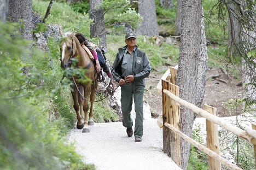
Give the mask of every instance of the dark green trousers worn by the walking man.
POLYGON ((143 95, 144 86, 134 86, 129 84, 121 85, 121 109, 123 113, 123 126, 132 127, 131 119, 132 98, 135 104, 135 129, 134 136, 142 137, 143 135, 143 95))

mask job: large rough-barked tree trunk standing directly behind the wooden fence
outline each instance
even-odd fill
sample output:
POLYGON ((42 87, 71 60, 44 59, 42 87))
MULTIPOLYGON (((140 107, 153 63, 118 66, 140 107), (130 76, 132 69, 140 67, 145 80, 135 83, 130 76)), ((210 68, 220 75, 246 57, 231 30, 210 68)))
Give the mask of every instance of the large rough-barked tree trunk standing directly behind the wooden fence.
MULTIPOLYGON (((182 1, 177 85, 180 97, 197 107, 201 107, 206 84, 207 48, 202 14, 202 1, 182 1)), ((180 130, 189 137, 195 117, 181 106, 180 130)), ((181 153, 181 168, 187 169, 190 144, 185 140, 181 141, 181 153)))

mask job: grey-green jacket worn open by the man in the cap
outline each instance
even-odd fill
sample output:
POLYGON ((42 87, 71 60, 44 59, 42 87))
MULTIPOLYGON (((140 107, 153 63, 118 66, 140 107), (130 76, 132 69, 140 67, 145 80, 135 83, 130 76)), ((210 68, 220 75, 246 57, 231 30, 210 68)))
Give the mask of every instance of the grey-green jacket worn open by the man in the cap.
MULTIPOLYGON (((123 63, 124 52, 127 48, 127 45, 123 48, 118 49, 118 53, 115 56, 115 61, 112 66, 112 75, 113 79, 119 83, 121 77, 121 67, 123 63)), ((126 63, 127 64, 127 63, 126 63)), ((138 49, 136 45, 135 52, 133 55, 132 63, 132 73, 134 75, 133 85, 143 85, 145 86, 145 78, 149 76, 151 67, 148 60, 148 57, 145 52, 138 49)), ((123 78, 124 79, 124 78, 123 78)))

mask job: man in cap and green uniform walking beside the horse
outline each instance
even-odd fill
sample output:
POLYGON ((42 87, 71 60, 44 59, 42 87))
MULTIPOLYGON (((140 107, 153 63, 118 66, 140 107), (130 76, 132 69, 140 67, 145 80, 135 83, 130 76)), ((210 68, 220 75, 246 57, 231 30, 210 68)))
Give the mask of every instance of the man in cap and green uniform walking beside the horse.
POLYGON ((148 77, 151 67, 145 52, 136 45, 136 34, 127 32, 126 46, 118 49, 112 67, 113 79, 121 86, 121 110, 123 126, 126 127, 128 137, 132 137, 133 122, 131 119, 132 98, 135 103, 135 142, 141 142, 143 135, 143 95, 145 78, 148 77))

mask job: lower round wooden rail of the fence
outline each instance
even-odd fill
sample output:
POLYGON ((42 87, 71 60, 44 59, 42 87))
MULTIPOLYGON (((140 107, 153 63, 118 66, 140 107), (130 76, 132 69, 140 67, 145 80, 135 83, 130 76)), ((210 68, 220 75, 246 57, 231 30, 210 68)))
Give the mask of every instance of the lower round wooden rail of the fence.
POLYGON ((236 170, 242 170, 241 168, 237 167, 235 164, 229 162, 228 160, 226 160, 223 157, 219 156, 218 154, 214 153, 214 151, 212 151, 211 149, 208 149, 206 146, 203 146, 202 144, 200 144, 200 143, 196 142, 195 140, 191 139, 190 137, 188 137, 187 135, 185 135, 181 131, 177 130, 177 128, 175 128, 174 126, 172 126, 170 124, 167 124, 167 123, 165 123, 165 126, 170 128, 175 133, 177 133, 178 136, 182 137, 183 139, 185 139, 190 144, 193 144, 194 146, 196 146, 196 148, 202 150, 207 155, 209 155, 209 156, 213 157, 214 159, 218 160, 219 162, 221 162, 226 167, 229 167, 231 169, 236 169, 236 170))

